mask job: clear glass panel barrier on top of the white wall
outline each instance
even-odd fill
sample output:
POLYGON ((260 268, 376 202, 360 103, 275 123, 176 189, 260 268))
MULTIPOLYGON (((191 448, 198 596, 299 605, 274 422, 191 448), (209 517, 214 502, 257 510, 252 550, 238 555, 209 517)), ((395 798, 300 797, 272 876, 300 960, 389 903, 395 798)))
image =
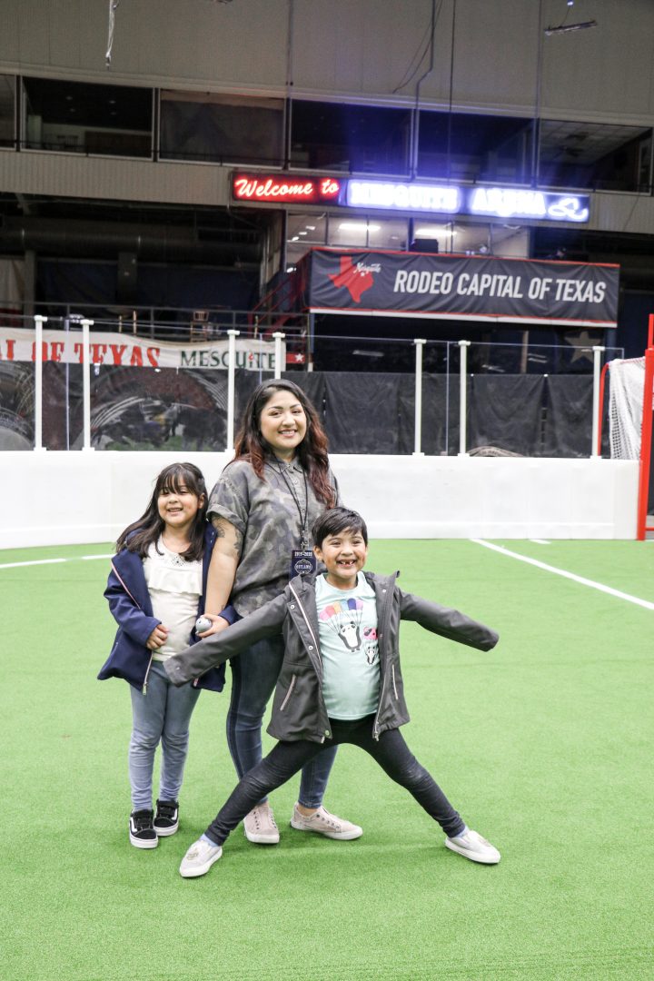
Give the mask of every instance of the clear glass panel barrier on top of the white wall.
MULTIPOLYGON (((595 339, 588 332, 560 336, 553 344, 532 344, 527 333, 518 344, 424 340, 417 345, 407 337, 319 336, 308 352, 307 337, 295 327, 289 322, 287 334, 275 332, 282 335, 277 338, 278 368, 314 403, 333 453, 590 456, 599 371, 606 361, 623 356, 622 348, 588 343, 595 339), (291 370, 284 371, 287 365, 291 370)), ((226 330, 233 329, 216 323, 208 336, 188 339, 186 333, 179 341, 178 325, 155 323, 152 328, 152 336, 142 337, 121 334, 116 322, 92 325, 91 445, 98 450, 224 451, 226 330)), ((246 324, 236 330, 233 418, 238 430, 251 392, 276 377, 277 351, 270 329, 265 338, 253 336, 259 329, 246 324)), ((34 336, 33 319, 25 318, 21 328, 2 328, 0 449, 35 446, 34 336)), ((51 318, 44 323, 40 422, 46 449, 83 448, 88 369, 82 353, 79 322, 51 318)), ((606 441, 606 426, 603 433, 606 441)))

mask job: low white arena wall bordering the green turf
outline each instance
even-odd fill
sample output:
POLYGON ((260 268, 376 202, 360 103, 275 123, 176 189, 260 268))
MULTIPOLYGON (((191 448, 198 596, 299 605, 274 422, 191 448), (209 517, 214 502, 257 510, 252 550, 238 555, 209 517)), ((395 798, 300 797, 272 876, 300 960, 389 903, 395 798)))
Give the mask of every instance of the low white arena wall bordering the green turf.
MULTIPOLYGON (((187 459, 209 488, 228 453, 0 454, 0 548, 115 541, 153 480, 187 459)), ((634 539, 638 463, 525 457, 332 455, 345 503, 383 539, 634 539)))

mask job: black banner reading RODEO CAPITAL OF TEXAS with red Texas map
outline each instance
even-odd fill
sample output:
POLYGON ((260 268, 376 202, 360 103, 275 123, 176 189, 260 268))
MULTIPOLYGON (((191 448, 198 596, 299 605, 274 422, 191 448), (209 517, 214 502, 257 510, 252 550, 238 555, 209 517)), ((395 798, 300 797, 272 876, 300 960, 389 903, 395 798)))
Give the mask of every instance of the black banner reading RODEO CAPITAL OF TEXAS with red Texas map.
POLYGON ((448 320, 616 327, 620 267, 312 249, 306 305, 448 320))

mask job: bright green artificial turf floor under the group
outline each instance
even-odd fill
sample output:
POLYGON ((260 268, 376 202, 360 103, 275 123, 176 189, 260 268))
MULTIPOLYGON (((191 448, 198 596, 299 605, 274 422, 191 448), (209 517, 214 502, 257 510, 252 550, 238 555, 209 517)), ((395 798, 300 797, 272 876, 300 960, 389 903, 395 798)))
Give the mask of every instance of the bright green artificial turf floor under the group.
MULTIPOLYGON (((502 542, 654 601, 654 544, 502 542)), ((443 848, 420 807, 339 749, 327 807, 355 842, 241 829, 198 880, 181 855, 234 783, 227 697, 191 723, 181 826, 131 848, 126 683, 95 675, 115 627, 109 545, 0 552, 2 928, 7 981, 652 977, 652 617, 475 542, 374 542, 369 567, 495 627, 483 654, 402 628, 410 747, 496 867, 443 848)), ((272 741, 266 737, 267 746, 272 741)))

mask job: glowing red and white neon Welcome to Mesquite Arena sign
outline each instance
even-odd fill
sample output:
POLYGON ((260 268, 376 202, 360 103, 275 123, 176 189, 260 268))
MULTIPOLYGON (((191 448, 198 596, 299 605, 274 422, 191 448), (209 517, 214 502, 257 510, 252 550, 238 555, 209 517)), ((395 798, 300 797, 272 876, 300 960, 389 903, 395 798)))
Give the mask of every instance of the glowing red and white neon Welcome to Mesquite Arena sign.
POLYGON ((437 215, 487 215, 549 222, 587 222, 588 194, 526 187, 485 187, 426 181, 360 181, 293 174, 232 176, 232 197, 258 204, 322 204, 437 215))

